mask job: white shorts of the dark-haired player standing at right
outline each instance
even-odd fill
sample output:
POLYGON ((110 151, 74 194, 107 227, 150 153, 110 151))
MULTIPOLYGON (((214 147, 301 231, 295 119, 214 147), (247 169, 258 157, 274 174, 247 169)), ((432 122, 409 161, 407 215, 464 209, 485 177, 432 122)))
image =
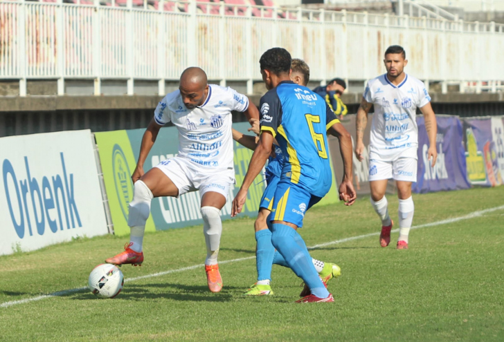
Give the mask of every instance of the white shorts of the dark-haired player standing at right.
POLYGON ((417 160, 415 158, 397 158, 390 162, 369 160, 369 180, 404 180, 417 181, 417 160))

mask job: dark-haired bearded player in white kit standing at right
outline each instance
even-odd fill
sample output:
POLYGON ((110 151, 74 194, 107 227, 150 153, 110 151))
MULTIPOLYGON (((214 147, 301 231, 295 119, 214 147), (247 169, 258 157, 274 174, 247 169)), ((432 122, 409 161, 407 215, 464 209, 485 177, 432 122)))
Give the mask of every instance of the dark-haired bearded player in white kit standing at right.
POLYGON ((393 222, 388 216, 385 191, 389 178, 397 184, 399 197, 399 240, 397 249, 408 249, 408 234, 413 222, 415 207, 411 197, 411 182, 417 181, 418 127, 415 120, 417 108, 424 115, 429 136, 427 152, 432 167, 438 158, 435 137, 438 126, 431 106, 431 97, 424 83, 403 72, 408 64, 401 46, 393 45, 385 51, 387 73, 371 79, 366 86, 361 105, 357 110, 357 145, 355 154, 363 160, 364 130, 368 112, 375 106, 372 116, 369 144, 369 180, 371 205, 381 218, 380 245, 390 243, 393 222))

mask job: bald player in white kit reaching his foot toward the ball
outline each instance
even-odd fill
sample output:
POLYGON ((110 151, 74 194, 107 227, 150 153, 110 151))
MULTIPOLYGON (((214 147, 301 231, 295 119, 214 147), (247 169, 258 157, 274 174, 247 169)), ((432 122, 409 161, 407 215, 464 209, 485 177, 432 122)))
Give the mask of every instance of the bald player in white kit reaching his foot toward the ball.
POLYGON ((143 135, 140 155, 132 175, 134 195, 129 203, 130 242, 125 251, 105 260, 114 265, 143 263, 145 222, 154 197, 179 197, 199 190, 206 241, 205 270, 211 292, 222 289, 217 265, 222 222, 220 210, 235 184, 231 111, 244 112, 249 121, 259 119, 258 108, 231 88, 208 85, 201 68, 187 68, 178 91, 166 95, 154 111, 143 135), (172 122, 179 131, 179 154, 163 160, 144 174, 143 163, 159 129, 172 122))

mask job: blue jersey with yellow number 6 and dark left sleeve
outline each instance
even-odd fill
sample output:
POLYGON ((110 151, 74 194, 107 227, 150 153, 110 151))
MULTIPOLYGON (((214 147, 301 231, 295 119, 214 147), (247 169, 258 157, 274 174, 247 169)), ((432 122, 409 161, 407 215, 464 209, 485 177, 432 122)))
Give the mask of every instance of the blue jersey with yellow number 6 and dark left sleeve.
POLYGON ((284 155, 280 180, 325 196, 332 184, 326 131, 336 122, 322 97, 294 82, 282 81, 261 97, 261 131, 276 137, 284 155))

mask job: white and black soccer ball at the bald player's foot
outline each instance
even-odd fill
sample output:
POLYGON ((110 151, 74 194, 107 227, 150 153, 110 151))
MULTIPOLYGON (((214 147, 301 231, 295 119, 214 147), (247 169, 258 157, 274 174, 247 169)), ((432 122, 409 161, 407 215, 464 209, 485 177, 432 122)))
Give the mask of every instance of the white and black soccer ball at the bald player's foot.
POLYGON ((124 276, 116 265, 101 264, 93 268, 87 283, 98 298, 114 298, 123 289, 124 276))

